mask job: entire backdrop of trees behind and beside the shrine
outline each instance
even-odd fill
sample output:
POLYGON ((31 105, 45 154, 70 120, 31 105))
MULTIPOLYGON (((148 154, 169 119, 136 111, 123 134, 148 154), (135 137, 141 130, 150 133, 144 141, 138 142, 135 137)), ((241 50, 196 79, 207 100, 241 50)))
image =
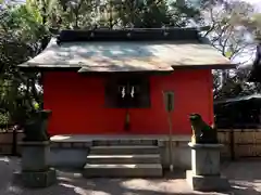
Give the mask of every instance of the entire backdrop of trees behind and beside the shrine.
MULTIPOLYGON (((14 121, 17 113, 29 114, 42 103, 40 74, 22 73, 16 65, 41 52, 52 34, 61 29, 209 25, 203 36, 231 60, 251 52, 253 35, 260 35, 260 15, 241 1, 26 0, 20 5, 0 4, 0 106, 14 121)), ((216 70, 213 75, 215 99, 260 89, 246 82, 247 69, 216 70)))

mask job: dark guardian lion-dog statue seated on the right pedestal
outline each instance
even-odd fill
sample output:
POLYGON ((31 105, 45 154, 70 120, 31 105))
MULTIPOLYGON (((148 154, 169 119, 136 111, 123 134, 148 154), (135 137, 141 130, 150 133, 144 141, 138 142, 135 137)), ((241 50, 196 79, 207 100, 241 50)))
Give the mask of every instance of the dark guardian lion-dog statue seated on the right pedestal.
POLYGON ((219 143, 216 129, 207 125, 199 114, 190 114, 189 120, 192 129, 192 143, 219 143))

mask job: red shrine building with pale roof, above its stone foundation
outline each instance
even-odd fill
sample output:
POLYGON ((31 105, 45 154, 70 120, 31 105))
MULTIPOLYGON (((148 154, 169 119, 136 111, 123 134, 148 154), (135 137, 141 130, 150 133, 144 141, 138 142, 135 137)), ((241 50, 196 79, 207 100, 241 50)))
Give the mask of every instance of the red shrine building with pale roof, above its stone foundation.
POLYGON ((42 74, 50 134, 145 135, 167 134, 167 116, 173 134, 191 133, 191 113, 213 123, 211 70, 235 65, 197 29, 173 28, 63 30, 20 66, 42 74))

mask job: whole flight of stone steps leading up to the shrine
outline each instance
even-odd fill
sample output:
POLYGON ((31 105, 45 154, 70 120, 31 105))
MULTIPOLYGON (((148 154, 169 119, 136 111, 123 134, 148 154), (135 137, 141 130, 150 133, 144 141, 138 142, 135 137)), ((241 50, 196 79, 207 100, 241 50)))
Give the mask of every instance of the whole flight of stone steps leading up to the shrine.
POLYGON ((92 141, 83 176, 85 178, 162 177, 157 141, 92 141))

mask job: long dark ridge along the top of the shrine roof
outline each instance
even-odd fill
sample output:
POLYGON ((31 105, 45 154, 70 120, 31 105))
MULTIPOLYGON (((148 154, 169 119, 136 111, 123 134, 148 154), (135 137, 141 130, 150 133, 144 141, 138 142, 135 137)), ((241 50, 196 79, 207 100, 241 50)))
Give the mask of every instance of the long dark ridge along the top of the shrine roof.
POLYGON ((157 41, 197 40, 199 30, 189 28, 124 28, 124 29, 65 29, 58 36, 58 43, 73 41, 157 41))

